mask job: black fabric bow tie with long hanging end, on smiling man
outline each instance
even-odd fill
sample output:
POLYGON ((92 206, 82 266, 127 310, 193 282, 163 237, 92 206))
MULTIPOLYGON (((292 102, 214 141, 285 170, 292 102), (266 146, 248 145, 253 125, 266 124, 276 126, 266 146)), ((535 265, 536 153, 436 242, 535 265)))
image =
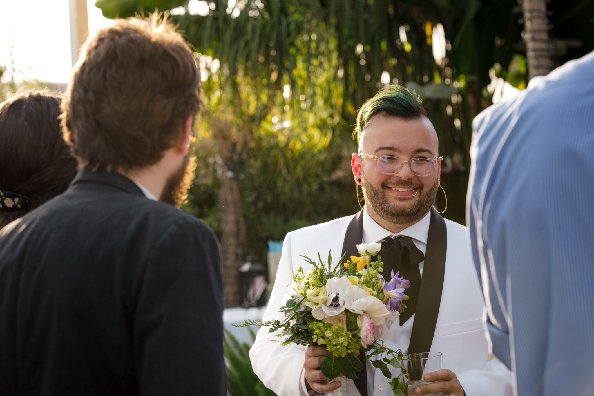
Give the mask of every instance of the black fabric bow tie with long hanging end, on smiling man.
MULTIPOLYGON (((391 271, 394 275, 400 272, 399 277, 404 277, 410 282, 410 287, 406 289, 405 294, 409 296, 406 302, 405 312, 400 313, 400 326, 410 319, 416 310, 416 301, 419 297, 421 288, 421 270, 419 262, 424 261, 425 255, 416 247, 415 242, 407 236, 399 235, 394 238, 387 237, 380 241, 381 250, 378 255, 384 262, 384 272, 382 275, 387 282, 390 281, 391 271)), ((372 258, 375 261, 377 256, 372 258)))

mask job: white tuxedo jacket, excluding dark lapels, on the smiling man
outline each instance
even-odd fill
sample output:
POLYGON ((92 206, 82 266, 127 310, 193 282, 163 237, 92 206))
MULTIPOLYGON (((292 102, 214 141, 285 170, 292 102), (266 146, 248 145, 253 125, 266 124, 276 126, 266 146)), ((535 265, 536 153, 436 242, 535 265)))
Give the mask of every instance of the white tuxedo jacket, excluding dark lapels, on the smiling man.
MULTIPOLYGON (((326 261, 328 250, 331 249, 333 264, 336 264, 352 218, 353 216, 347 216, 287 234, 264 321, 284 318, 283 313, 277 312, 277 309, 285 305, 287 284, 292 280, 290 274, 299 267, 303 267, 305 272, 311 269, 311 265, 300 255, 307 255, 317 261, 319 251, 326 261)), ((499 360, 488 360, 489 351, 483 325, 484 308, 470 261, 467 229, 453 221, 445 220, 445 223, 447 253, 444 285, 431 351, 443 353, 443 368, 456 373, 467 396, 511 395, 511 373, 499 360)), ((414 318, 413 315, 406 324, 414 318)), ((397 332, 399 329, 396 322, 386 333, 397 332)), ((249 351, 254 372, 267 388, 279 396, 307 396, 303 367, 306 347, 295 344, 281 346, 283 339, 275 337, 268 330, 269 328, 263 327, 258 331, 254 346, 249 351)), ((383 338, 387 338, 386 334, 383 338)), ((389 343, 388 346, 396 349, 389 343)), ((403 353, 407 352, 407 348, 408 343, 405 347, 400 346, 403 353)), ((371 359, 377 357, 376 355, 371 359)), ((398 375, 399 371, 392 369, 393 376, 398 375)), ((393 395, 388 384, 390 380, 380 370, 376 370, 371 362, 367 363, 367 372, 370 396, 393 395)), ((349 396, 360 395, 350 379, 347 381, 347 392, 349 396)))

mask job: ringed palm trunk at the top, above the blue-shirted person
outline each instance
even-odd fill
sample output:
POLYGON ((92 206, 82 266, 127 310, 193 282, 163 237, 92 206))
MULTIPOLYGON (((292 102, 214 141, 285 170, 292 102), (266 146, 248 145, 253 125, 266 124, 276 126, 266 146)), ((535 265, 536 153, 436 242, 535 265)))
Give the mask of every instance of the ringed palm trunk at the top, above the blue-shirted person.
POLYGON ((545 0, 524 0, 526 56, 528 61, 528 79, 537 75, 546 75, 551 71, 549 55, 549 33, 546 29, 545 0))

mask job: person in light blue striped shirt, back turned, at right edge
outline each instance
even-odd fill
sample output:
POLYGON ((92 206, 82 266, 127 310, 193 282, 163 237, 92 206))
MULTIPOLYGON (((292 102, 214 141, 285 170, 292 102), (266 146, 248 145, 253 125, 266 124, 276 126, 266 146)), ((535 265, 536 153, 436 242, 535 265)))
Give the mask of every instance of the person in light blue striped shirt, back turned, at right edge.
POLYGON ((518 396, 594 394, 594 52, 473 121, 467 224, 518 396))

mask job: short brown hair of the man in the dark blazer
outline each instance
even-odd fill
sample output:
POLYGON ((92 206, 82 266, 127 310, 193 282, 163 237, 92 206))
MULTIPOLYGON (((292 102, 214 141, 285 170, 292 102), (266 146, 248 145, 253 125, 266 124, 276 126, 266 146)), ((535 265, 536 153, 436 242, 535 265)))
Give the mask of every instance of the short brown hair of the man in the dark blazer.
POLYGON ((113 172, 157 163, 198 112, 199 83, 188 45, 158 15, 97 32, 62 103, 65 137, 80 166, 113 172))

